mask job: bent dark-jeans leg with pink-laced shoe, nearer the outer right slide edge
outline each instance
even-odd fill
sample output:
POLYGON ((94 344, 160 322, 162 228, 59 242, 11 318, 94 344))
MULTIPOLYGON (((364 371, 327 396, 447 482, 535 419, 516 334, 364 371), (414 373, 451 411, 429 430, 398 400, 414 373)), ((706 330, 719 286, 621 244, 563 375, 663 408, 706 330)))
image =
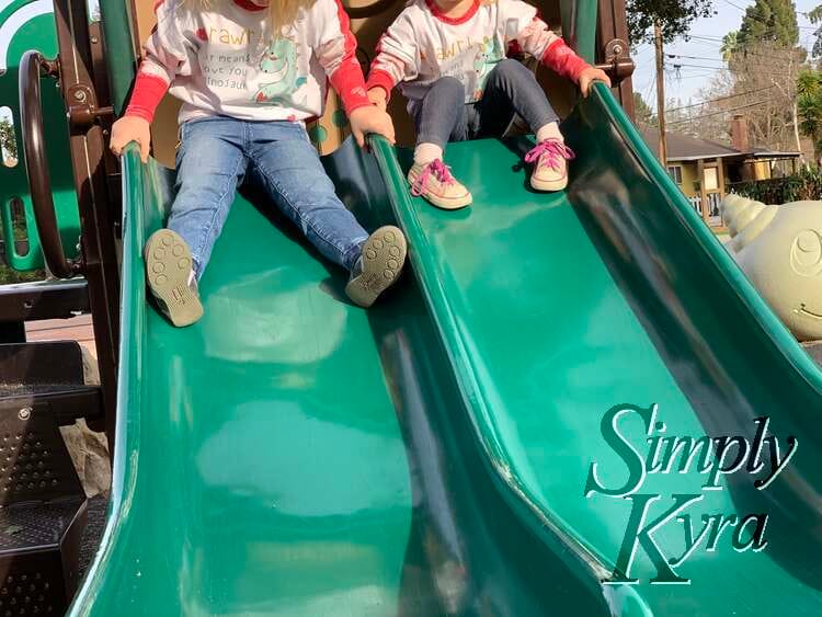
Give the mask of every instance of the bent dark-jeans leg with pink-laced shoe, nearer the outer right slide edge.
POLYGON ((534 73, 516 60, 502 60, 491 71, 479 103, 480 134, 502 136, 520 114, 536 134, 537 146, 526 155, 534 162, 530 185, 537 191, 560 191, 568 185, 566 161, 573 152, 566 147, 557 113, 534 73))

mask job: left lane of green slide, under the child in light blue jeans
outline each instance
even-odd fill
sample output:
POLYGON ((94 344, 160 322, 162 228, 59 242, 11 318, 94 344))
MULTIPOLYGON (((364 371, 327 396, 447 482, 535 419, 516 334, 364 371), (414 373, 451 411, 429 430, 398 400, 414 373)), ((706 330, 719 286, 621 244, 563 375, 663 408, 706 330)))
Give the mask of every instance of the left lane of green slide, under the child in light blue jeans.
MULTIPOLYGON (((375 160, 326 164, 369 226, 375 160)), ((146 306, 161 170, 124 160, 123 340, 102 548, 72 615, 602 614, 491 480, 412 276, 373 310, 259 196, 238 198, 178 330, 146 306)))

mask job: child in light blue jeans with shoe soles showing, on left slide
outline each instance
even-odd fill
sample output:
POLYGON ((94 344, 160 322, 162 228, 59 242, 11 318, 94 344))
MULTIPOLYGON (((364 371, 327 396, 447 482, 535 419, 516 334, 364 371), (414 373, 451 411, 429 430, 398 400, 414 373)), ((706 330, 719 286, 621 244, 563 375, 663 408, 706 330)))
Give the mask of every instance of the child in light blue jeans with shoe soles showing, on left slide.
POLYGON ((118 155, 137 141, 146 161, 160 100, 169 91, 183 101, 176 196, 168 228, 145 249, 162 312, 178 327, 203 315, 197 281, 243 181, 260 184, 322 255, 345 267, 346 294, 370 306, 402 271, 406 239, 392 226, 370 236, 363 229, 305 128, 322 115, 328 79, 361 146, 366 133, 393 141, 390 118, 366 95, 339 0, 165 0, 156 10, 158 25, 111 147, 118 155))

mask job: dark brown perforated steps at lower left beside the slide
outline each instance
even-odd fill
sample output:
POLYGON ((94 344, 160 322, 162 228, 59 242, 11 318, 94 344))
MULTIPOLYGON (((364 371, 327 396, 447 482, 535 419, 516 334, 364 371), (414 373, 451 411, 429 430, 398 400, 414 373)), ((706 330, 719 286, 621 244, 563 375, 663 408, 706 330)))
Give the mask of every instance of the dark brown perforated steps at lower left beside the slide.
POLYGON ((60 615, 75 593, 85 494, 59 425, 100 401, 78 343, 0 344, 0 616, 60 615))

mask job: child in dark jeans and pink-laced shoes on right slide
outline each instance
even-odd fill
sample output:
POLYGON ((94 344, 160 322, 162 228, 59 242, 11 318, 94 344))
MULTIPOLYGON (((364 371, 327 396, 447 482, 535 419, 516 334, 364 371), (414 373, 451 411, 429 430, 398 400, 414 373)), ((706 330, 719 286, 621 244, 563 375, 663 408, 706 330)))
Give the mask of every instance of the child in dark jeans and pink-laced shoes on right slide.
POLYGON ((534 73, 510 53, 525 52, 587 94, 608 77, 576 56, 537 10, 521 0, 412 0, 377 47, 368 75, 368 96, 385 110, 399 85, 416 124, 412 192, 435 206, 463 208, 471 194, 443 163, 448 141, 502 137, 518 114, 537 145, 525 157, 535 163, 530 184, 560 191, 573 158, 557 114, 534 73))

